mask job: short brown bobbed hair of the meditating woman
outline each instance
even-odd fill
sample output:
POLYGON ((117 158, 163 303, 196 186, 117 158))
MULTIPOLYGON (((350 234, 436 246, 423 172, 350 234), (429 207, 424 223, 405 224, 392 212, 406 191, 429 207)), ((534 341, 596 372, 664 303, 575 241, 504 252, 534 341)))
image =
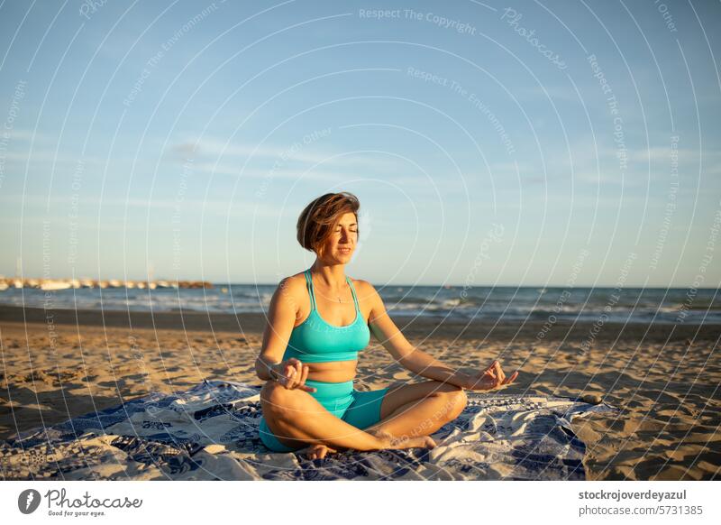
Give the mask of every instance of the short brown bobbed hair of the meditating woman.
MULTIPOLYGON (((306 250, 323 257, 325 241, 333 234, 341 216, 353 213, 358 220, 360 202, 352 193, 326 193, 311 201, 301 212, 297 223, 297 240, 306 250)), ((360 235, 360 233, 359 233, 360 235)))

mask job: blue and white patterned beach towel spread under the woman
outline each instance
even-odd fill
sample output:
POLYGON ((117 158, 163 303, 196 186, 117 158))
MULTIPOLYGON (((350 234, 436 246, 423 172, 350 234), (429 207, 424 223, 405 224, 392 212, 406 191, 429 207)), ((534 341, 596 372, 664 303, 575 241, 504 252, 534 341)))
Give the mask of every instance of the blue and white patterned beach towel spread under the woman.
POLYGON ((260 386, 205 380, 0 441, 5 480, 583 480, 570 421, 617 409, 467 391, 433 449, 346 450, 323 459, 260 442, 260 386))

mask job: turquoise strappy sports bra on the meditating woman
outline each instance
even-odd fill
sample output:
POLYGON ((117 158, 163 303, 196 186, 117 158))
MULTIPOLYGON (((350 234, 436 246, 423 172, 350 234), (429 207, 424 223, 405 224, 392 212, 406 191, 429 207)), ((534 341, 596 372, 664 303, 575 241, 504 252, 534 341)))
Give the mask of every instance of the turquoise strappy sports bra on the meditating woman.
POLYGON ((363 320, 355 295, 353 283, 346 277, 351 286, 351 294, 355 303, 355 321, 344 327, 336 327, 326 323, 315 308, 315 293, 310 270, 304 272, 308 294, 310 295, 310 314, 300 325, 293 328, 287 342, 283 361, 290 357, 297 358, 301 363, 324 363, 327 361, 352 361, 358 359, 358 352, 370 342, 370 329, 363 320))

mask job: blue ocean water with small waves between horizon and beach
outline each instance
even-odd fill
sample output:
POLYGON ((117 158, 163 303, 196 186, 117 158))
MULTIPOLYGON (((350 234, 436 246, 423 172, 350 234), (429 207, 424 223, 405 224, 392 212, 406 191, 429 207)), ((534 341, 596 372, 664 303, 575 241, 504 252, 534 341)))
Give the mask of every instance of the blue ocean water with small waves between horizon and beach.
MULTIPOLYGON (((468 321, 721 323, 716 289, 379 286, 394 316, 468 321)), ((0 305, 50 309, 266 312, 276 285, 216 283, 208 290, 77 289, 0 291, 0 305)))

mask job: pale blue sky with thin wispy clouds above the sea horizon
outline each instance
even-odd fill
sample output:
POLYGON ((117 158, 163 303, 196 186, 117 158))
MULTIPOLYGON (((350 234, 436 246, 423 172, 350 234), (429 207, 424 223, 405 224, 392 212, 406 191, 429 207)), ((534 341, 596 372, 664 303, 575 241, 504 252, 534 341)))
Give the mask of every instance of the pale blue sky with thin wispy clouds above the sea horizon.
POLYGON ((0 4, 0 275, 721 281, 717 2, 0 4))

